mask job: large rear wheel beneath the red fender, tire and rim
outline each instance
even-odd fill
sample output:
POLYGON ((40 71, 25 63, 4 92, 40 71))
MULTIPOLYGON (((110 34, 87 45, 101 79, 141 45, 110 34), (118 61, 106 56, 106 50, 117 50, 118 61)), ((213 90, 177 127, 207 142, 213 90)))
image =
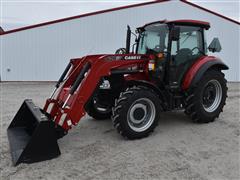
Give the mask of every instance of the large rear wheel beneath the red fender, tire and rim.
POLYGON ((186 98, 185 114, 194 122, 213 122, 223 111, 227 98, 227 86, 221 71, 209 70, 186 98))

